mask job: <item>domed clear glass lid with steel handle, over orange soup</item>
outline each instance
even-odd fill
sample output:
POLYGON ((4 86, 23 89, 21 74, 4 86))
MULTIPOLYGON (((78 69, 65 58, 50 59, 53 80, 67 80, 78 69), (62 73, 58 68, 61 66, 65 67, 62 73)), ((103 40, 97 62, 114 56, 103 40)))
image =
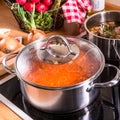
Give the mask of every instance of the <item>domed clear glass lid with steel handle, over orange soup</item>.
POLYGON ((89 79, 103 63, 101 51, 90 41, 55 35, 27 45, 17 56, 16 68, 32 83, 61 87, 89 79))

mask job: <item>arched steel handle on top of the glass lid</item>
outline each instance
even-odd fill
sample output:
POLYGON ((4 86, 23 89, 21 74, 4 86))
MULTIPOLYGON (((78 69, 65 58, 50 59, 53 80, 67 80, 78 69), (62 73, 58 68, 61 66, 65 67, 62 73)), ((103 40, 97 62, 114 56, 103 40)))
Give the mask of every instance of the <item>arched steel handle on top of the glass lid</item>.
POLYGON ((50 55, 52 55, 53 57, 56 57, 56 58, 59 58, 59 57, 65 58, 70 54, 74 55, 74 56, 76 55, 76 53, 71 50, 70 44, 67 41, 67 39, 65 37, 61 36, 61 35, 53 35, 53 36, 47 38, 46 46, 44 48, 41 48, 41 50, 47 50, 50 55), (68 53, 66 55, 55 54, 48 48, 48 45, 50 44, 50 41, 52 41, 53 39, 57 40, 57 38, 61 39, 66 44, 66 47, 68 49, 68 53))

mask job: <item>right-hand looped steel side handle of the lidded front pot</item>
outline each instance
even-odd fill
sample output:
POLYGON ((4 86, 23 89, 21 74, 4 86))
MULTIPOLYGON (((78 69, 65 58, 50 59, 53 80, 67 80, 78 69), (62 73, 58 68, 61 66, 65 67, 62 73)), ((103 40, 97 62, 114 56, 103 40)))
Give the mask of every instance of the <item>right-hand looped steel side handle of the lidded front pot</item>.
POLYGON ((92 90, 93 88, 105 88, 105 87, 112 87, 118 84, 119 80, 120 80, 120 70, 111 64, 105 64, 105 67, 113 67, 117 70, 116 76, 109 82, 103 82, 103 83, 94 83, 91 84, 88 88, 87 91, 89 92, 90 90, 92 90))

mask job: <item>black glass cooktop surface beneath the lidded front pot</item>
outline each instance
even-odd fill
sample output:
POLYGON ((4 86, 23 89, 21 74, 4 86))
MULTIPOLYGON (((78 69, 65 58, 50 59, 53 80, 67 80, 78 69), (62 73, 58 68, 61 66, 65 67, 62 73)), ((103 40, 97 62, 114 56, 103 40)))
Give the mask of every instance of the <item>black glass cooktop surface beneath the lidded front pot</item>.
MULTIPOLYGON (((104 81, 111 79, 115 74, 106 70, 101 74, 104 81), (108 72, 107 72, 108 73, 108 72)), ((103 82, 104 82, 103 81, 103 82)), ((82 110, 69 114, 54 114, 40 111, 30 105, 22 96, 20 81, 17 77, 4 82, 0 86, 0 93, 20 108, 24 113, 34 120, 120 120, 120 85, 100 89, 100 95, 82 110)))

